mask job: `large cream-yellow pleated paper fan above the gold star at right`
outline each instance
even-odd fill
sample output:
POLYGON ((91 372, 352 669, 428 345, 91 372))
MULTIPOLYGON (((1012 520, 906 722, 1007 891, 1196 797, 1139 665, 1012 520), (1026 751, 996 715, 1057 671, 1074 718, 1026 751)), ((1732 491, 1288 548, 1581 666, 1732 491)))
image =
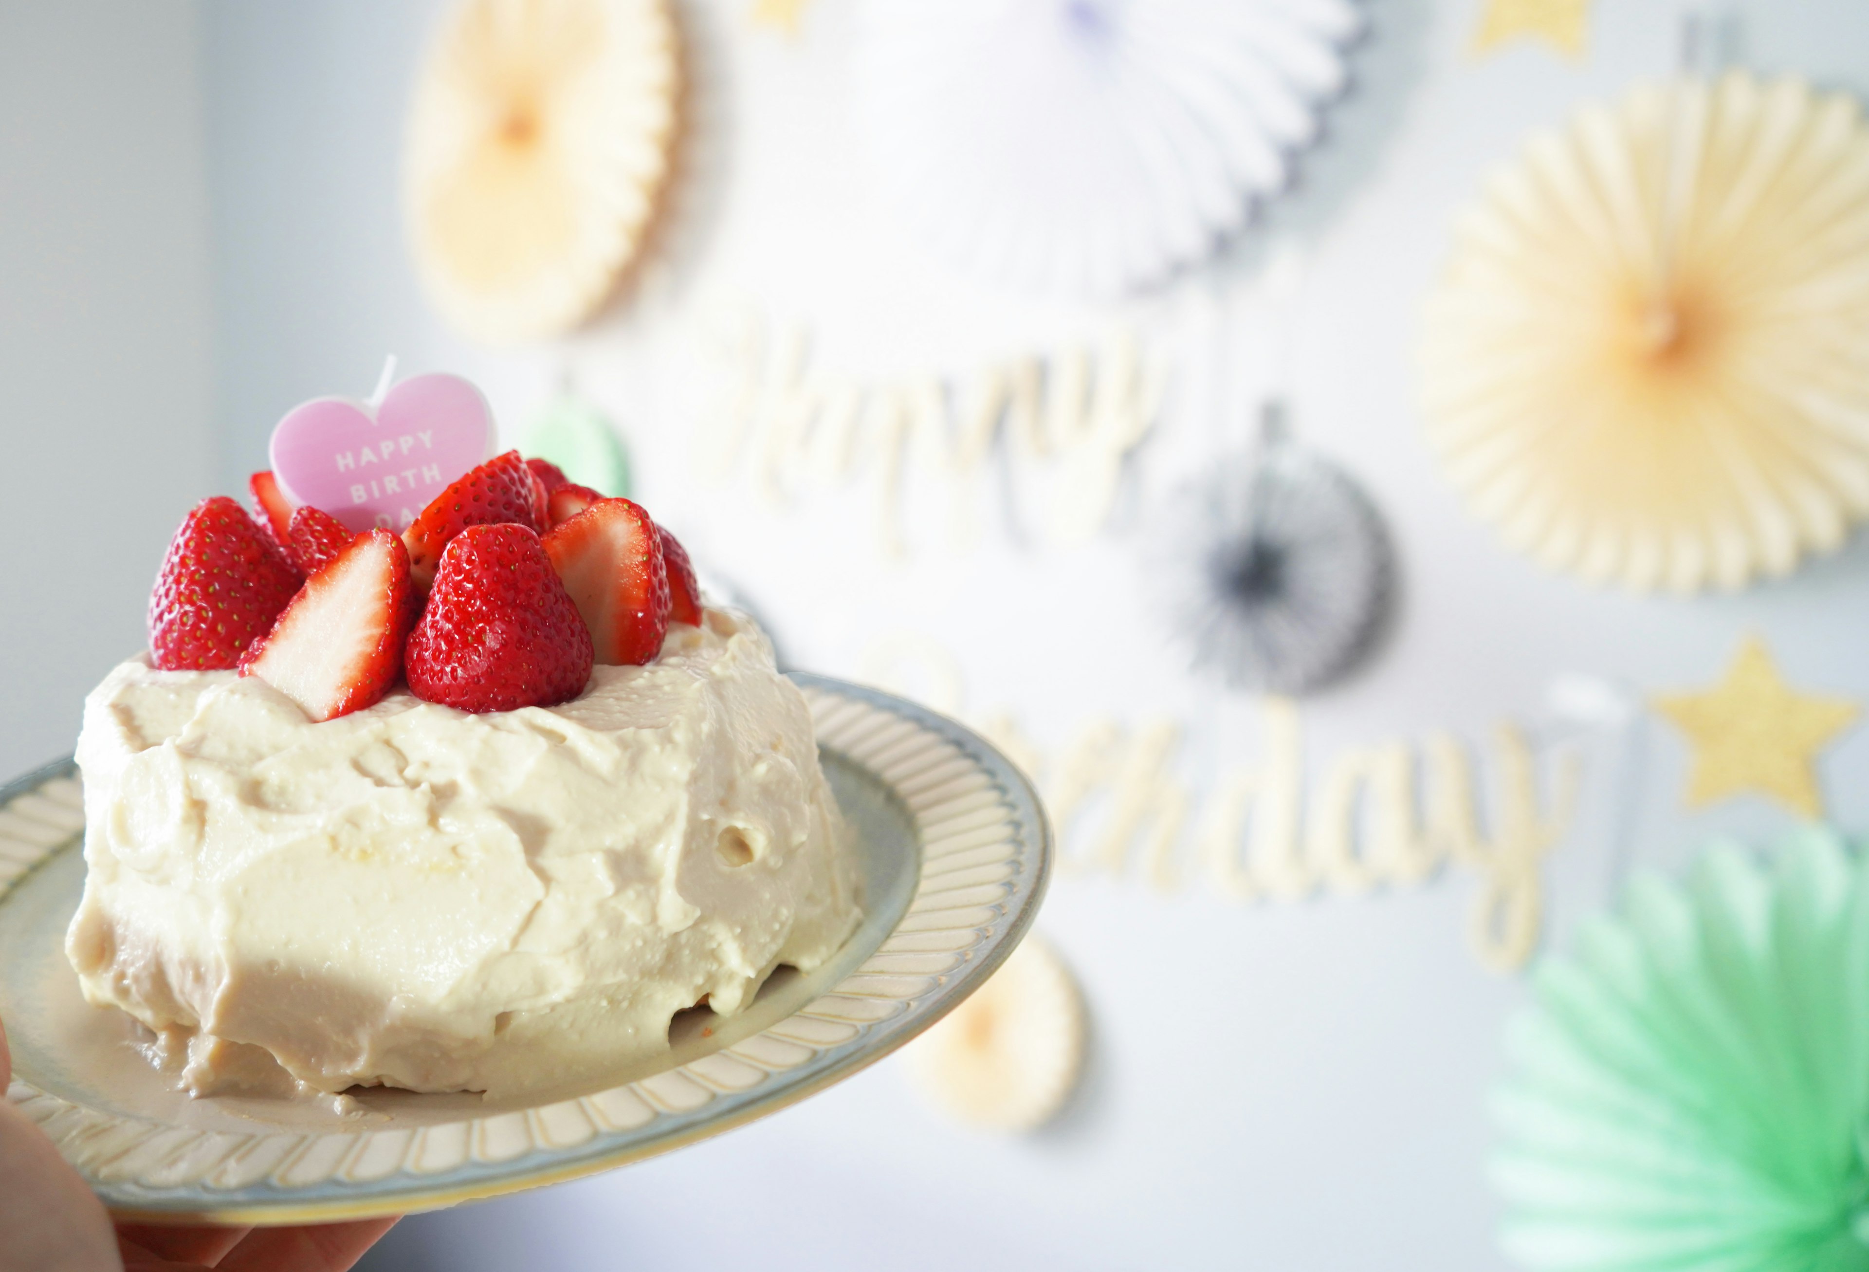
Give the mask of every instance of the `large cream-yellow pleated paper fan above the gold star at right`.
POLYGON ((1738 587, 1869 513, 1869 127, 1800 80, 1647 86, 1497 174, 1424 339, 1428 440, 1553 569, 1738 587))

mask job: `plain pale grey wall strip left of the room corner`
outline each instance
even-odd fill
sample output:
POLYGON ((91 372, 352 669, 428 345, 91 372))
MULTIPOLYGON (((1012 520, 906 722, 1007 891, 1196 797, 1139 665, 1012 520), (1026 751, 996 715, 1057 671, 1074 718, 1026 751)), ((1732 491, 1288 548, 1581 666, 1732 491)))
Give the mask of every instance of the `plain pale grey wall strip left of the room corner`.
POLYGON ((200 6, 0 2, 0 771, 144 643, 213 453, 200 6))

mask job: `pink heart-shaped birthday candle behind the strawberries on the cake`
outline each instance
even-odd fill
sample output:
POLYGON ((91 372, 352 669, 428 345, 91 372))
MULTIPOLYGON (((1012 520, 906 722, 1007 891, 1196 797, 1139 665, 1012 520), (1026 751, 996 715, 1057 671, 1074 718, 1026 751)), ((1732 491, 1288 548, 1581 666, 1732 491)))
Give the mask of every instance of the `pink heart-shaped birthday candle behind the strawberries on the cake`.
POLYGON ((428 501, 488 456, 493 413, 460 376, 409 376, 374 415, 364 402, 314 398, 273 428, 273 475, 293 505, 348 529, 407 529, 428 501))

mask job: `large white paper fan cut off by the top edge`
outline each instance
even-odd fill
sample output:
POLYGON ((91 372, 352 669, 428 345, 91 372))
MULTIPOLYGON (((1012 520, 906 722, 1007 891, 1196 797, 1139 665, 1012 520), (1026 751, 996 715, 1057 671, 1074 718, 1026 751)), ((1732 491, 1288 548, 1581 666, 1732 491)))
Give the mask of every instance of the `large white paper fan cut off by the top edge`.
POLYGON ((972 273, 1106 296, 1157 282, 1280 191, 1344 90, 1351 0, 871 0, 856 94, 875 170, 972 273))

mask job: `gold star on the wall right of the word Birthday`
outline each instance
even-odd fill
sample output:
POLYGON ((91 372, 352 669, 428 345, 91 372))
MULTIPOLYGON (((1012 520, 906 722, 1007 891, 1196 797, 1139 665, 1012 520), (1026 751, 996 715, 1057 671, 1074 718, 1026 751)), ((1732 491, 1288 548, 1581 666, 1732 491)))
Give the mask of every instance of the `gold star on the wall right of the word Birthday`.
POLYGON ((1656 696, 1654 709, 1673 720, 1693 748, 1690 808, 1757 791, 1805 817, 1824 810, 1813 771, 1817 752, 1860 711, 1843 698, 1792 690, 1757 636, 1740 647, 1719 685, 1701 694, 1656 696))

